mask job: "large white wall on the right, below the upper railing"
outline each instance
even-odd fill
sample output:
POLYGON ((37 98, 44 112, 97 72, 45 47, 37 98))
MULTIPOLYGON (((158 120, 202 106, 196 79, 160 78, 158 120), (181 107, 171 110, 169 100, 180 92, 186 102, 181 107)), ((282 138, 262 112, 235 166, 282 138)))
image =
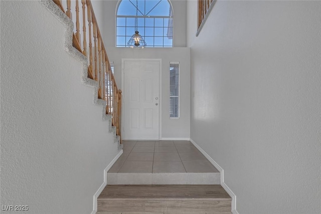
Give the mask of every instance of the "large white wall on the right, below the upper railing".
POLYGON ((191 138, 240 214, 321 210, 321 3, 218 1, 199 37, 188 1, 191 138))

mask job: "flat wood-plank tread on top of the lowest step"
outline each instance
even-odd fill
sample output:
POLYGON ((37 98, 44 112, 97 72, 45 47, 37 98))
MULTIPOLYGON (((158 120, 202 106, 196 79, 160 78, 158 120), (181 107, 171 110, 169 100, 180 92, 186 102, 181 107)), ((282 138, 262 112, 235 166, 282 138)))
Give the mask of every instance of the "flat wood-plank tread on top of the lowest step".
POLYGON ((221 185, 107 185, 98 200, 232 200, 221 185))

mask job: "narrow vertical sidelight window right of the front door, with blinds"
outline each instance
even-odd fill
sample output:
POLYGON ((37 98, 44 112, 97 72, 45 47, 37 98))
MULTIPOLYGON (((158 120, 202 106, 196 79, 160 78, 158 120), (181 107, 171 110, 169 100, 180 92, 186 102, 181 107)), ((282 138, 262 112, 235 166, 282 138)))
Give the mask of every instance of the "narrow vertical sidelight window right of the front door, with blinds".
POLYGON ((180 113, 180 68, 178 63, 170 64, 170 117, 180 113))

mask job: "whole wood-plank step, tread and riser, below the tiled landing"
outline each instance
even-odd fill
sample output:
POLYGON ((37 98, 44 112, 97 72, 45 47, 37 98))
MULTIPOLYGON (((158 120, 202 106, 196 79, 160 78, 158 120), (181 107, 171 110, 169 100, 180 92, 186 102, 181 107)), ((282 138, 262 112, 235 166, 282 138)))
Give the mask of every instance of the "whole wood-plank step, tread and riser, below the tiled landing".
POLYGON ((230 213, 231 200, 221 185, 107 185, 97 213, 230 213))

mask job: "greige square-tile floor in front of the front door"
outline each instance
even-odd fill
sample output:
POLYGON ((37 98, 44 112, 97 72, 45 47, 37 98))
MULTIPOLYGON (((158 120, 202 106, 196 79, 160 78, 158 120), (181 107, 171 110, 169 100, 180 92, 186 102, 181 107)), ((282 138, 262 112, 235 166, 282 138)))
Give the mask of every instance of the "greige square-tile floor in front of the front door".
POLYGON ((108 173, 219 172, 190 141, 123 140, 123 154, 108 173))

